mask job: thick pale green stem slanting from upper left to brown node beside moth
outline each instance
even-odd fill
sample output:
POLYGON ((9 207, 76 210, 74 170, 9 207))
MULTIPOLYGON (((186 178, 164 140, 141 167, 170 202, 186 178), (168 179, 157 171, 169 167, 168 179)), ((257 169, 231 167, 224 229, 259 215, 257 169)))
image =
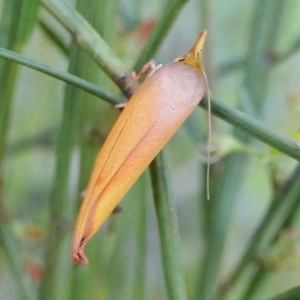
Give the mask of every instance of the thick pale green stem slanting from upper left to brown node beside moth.
POLYGON ((137 83, 123 63, 95 29, 71 6, 61 0, 40 0, 41 4, 72 34, 75 43, 86 50, 107 75, 131 96, 137 83))

